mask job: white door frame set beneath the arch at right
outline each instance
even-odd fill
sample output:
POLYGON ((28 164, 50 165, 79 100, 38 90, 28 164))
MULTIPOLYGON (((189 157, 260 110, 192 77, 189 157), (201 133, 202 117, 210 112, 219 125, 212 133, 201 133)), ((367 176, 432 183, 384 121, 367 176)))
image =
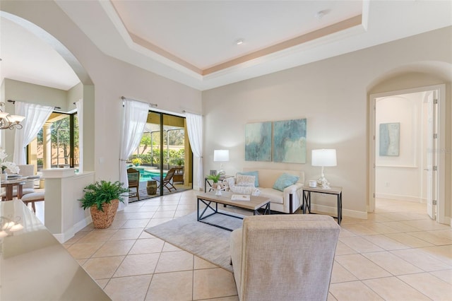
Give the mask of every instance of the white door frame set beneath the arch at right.
POLYGON ((451 220, 446 218, 445 214, 445 179, 446 179, 446 85, 428 85, 419 88, 411 88, 404 90, 395 90, 385 93, 376 93, 369 95, 369 194, 367 199, 367 212, 375 211, 375 164, 376 164, 376 98, 388 96, 396 96, 408 93, 419 93, 430 90, 436 90, 438 95, 438 115, 436 116, 436 124, 438 126, 438 141, 436 150, 437 158, 437 177, 436 177, 436 221, 438 223, 450 224, 451 220))

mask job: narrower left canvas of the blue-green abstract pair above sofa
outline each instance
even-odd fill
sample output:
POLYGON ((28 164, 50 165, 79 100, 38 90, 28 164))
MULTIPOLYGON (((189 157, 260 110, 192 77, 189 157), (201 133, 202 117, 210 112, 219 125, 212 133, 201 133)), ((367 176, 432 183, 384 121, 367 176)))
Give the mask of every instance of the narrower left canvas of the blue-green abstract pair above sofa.
POLYGON ((245 160, 271 161, 271 122, 245 125, 245 160))

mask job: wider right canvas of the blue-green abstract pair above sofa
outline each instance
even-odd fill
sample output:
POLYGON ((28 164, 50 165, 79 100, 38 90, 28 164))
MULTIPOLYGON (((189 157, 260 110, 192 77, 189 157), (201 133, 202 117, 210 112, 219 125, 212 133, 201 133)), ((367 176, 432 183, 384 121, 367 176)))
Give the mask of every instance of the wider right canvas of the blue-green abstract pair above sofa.
POLYGON ((273 122, 273 161, 306 163, 306 119, 273 122))

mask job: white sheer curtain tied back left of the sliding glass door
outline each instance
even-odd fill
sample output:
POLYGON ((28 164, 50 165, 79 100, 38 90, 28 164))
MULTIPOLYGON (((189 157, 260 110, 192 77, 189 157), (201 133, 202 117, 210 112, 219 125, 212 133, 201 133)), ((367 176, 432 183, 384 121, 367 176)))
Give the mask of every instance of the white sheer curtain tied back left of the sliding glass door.
MULTIPOLYGON (((119 179, 124 187, 129 187, 127 181, 126 160, 138 148, 148 119, 149 104, 133 100, 124 100, 122 115, 121 154, 119 156, 119 179)), ((118 210, 124 209, 129 203, 129 196, 124 197, 124 203, 119 202, 118 210)))

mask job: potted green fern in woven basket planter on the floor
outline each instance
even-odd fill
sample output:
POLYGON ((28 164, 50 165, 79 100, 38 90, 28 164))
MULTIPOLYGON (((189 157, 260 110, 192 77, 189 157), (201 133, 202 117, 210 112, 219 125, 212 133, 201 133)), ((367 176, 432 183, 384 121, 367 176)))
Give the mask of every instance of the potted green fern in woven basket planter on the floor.
POLYGON ((122 187, 123 184, 101 180, 83 189, 85 196, 79 201, 83 209, 90 208, 94 228, 105 229, 112 225, 119 201, 124 202, 121 194, 129 192, 128 188, 122 187))

